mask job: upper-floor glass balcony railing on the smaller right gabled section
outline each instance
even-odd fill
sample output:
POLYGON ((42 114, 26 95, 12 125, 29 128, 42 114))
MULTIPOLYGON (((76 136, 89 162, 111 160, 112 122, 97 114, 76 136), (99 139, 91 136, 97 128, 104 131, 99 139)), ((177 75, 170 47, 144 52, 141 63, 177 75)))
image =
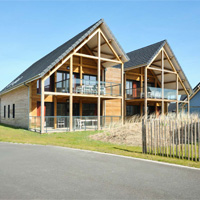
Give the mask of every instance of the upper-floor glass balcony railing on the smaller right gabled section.
MULTIPOLYGON (((127 99, 143 99, 144 88, 131 88, 126 89, 127 99)), ((162 88, 147 87, 147 98, 149 99, 162 99, 162 88)), ((176 90, 164 89, 164 99, 176 100, 176 90)))

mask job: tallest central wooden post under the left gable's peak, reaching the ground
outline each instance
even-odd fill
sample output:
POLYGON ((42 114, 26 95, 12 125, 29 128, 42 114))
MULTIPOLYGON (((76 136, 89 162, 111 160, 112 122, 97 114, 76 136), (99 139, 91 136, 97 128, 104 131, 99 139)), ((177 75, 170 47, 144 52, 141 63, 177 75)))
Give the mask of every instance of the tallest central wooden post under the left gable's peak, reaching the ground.
POLYGON ((101 81, 101 33, 98 32, 98 106, 97 106, 97 118, 98 118, 98 125, 97 128, 98 130, 101 129, 101 124, 100 124, 100 111, 101 111, 101 99, 100 99, 100 81, 101 81))

